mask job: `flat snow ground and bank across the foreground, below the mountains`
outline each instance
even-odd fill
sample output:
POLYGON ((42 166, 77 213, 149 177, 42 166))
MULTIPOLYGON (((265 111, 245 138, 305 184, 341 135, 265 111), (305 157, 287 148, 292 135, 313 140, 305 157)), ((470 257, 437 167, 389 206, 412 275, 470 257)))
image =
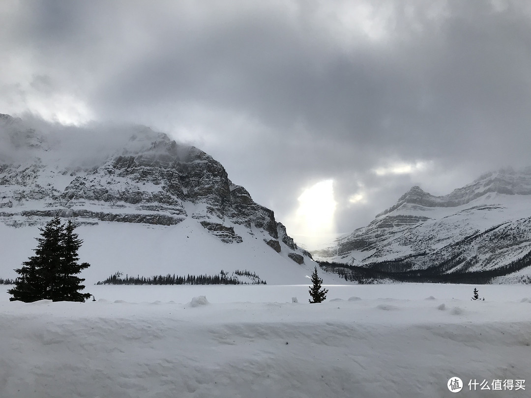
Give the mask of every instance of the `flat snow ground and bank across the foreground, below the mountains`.
POLYGON ((473 288, 331 285, 318 305, 307 285, 91 286, 84 304, 2 292, 0 396, 439 397, 453 376, 458 396, 529 396, 531 287, 473 288))

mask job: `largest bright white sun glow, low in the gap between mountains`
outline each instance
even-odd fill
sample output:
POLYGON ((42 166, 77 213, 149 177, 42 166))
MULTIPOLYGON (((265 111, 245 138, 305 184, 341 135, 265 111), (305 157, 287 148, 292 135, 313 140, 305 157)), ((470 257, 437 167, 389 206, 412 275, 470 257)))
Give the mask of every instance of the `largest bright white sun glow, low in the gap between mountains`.
POLYGON ((295 240, 311 247, 335 235, 333 180, 324 180, 304 189, 298 207, 289 218, 289 230, 295 240))

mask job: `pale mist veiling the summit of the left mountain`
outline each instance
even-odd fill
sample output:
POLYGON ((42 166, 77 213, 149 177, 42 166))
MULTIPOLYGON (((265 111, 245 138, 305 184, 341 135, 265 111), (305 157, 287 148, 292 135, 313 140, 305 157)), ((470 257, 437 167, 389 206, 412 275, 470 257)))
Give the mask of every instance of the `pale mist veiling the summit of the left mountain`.
MULTIPOLYGON (((64 168, 98 167, 116 155, 171 153, 187 158, 193 147, 179 145, 150 127, 92 122, 83 126, 51 123, 34 115, 0 115, 0 163, 56 163, 64 168)), ((202 151, 194 149, 193 152, 202 151)), ((203 152, 204 153, 204 152, 203 152)))

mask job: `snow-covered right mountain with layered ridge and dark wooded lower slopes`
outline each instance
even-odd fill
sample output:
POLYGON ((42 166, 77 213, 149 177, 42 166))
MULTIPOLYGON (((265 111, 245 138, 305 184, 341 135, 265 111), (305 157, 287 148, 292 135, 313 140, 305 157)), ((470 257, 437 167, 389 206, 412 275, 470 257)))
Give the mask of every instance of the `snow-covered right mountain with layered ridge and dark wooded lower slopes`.
POLYGON ((491 172, 445 196, 414 186, 368 226, 313 254, 412 278, 528 281, 531 168, 491 172))

